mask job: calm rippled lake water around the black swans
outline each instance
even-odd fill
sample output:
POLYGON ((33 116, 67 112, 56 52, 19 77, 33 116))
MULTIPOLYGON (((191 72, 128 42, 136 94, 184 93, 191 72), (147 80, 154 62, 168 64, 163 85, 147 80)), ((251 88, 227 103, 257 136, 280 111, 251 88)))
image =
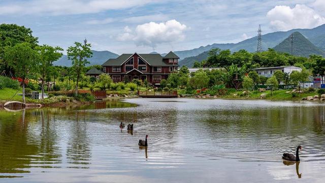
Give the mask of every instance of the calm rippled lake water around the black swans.
POLYGON ((324 120, 325 105, 312 102, 129 99, 0 110, 0 182, 324 182, 324 120), (133 134, 121 121, 134 123, 133 134), (139 148, 146 134, 149 146, 139 148), (300 164, 285 165, 281 155, 299 144, 300 164))

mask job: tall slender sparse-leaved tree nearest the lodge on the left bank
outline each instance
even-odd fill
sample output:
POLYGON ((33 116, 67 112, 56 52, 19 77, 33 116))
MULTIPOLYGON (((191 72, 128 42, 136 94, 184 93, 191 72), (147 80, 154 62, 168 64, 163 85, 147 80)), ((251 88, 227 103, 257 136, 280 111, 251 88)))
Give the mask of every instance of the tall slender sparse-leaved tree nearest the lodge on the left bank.
POLYGON ((68 59, 72 60, 72 68, 76 75, 76 95, 78 95, 78 82, 81 74, 84 72, 86 64, 89 64, 87 58, 92 56, 92 51, 90 50, 90 44, 85 43, 84 45, 75 42, 75 46, 70 46, 67 50, 68 59))

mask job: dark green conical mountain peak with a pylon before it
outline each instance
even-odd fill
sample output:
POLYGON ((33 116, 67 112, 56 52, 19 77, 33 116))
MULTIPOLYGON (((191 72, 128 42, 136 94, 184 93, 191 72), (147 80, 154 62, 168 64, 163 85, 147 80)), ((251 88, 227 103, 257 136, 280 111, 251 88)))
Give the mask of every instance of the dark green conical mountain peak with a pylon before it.
MULTIPOLYGON (((325 51, 317 48, 301 33, 295 32, 293 36, 293 55, 308 57, 311 54, 325 55, 325 51)), ((283 40, 280 44, 274 47, 278 52, 291 53, 291 36, 283 40)))

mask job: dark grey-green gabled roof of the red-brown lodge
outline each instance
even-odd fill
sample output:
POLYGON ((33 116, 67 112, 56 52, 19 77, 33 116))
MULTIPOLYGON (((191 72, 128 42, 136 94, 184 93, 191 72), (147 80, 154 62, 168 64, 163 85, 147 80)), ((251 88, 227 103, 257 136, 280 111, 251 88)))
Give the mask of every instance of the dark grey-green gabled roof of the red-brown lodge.
MULTIPOLYGON (((175 53, 169 52, 168 54, 170 53, 174 54, 176 56, 175 58, 179 58, 175 53)), ((126 59, 128 59, 132 55, 133 54, 124 53, 117 58, 110 58, 102 66, 120 66, 126 61, 126 59)), ((161 56, 160 54, 155 54, 155 53, 138 54, 138 55, 140 55, 150 66, 170 66, 165 62, 163 62, 163 58, 167 58, 166 57, 167 55, 164 57, 161 56)))

